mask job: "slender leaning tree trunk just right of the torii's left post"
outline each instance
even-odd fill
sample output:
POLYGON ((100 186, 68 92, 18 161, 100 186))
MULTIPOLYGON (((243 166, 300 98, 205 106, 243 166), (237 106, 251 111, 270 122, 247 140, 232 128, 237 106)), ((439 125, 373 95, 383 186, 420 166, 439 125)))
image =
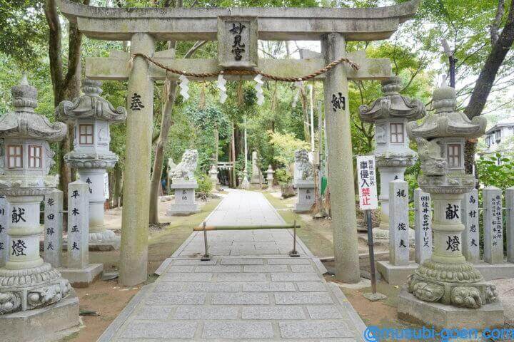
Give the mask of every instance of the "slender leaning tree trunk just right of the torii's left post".
POLYGON ((164 163, 164 147, 168 142, 169 130, 171 128, 171 113, 173 112, 173 105, 175 104, 176 98, 176 81, 169 82, 169 92, 166 103, 164 104, 162 120, 161 120, 161 132, 156 143, 155 159, 153 160, 153 172, 150 182, 150 217, 149 223, 158 224, 158 194, 161 186, 161 175, 163 171, 164 163))

